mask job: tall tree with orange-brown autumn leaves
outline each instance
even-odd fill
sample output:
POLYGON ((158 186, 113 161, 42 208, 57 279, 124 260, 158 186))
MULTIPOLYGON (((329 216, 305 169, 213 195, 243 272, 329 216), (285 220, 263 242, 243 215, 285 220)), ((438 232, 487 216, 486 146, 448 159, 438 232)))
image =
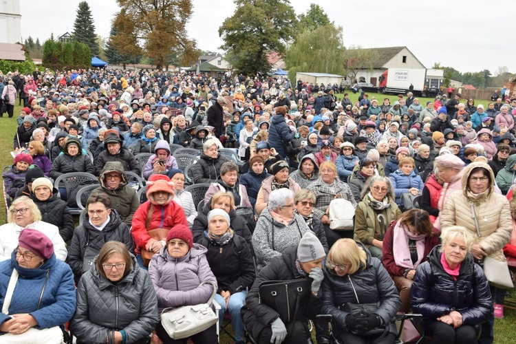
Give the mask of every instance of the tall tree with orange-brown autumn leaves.
POLYGON ((147 56, 159 68, 168 68, 171 54, 180 61, 195 61, 197 49, 193 39, 188 39, 186 23, 192 14, 191 0, 117 0, 120 12, 113 23, 116 35, 111 43, 118 52, 136 57, 143 45, 147 56))

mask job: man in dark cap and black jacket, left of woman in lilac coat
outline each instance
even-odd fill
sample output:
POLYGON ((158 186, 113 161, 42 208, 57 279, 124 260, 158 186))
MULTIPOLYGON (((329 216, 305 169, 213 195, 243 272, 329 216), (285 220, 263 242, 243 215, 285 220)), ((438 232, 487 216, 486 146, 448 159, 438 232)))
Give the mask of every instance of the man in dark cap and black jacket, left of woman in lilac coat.
POLYGON ((134 158, 133 153, 122 147, 122 140, 118 136, 116 131, 106 131, 104 138, 105 151, 98 155, 97 161, 95 162, 95 175, 100 175, 104 165, 108 161, 118 161, 122 163, 124 170, 127 172, 136 173, 140 175, 142 170, 138 160, 134 158))

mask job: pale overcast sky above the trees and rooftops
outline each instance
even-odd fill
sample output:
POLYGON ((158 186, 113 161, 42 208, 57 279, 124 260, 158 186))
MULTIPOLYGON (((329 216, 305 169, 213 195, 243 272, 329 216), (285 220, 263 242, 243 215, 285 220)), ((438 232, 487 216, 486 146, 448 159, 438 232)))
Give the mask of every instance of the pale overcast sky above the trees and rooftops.
MULTIPOLYGON (((72 32, 77 0, 20 0, 21 34, 25 40, 72 32)), ((407 46, 425 67, 435 62, 460 72, 499 66, 516 72, 510 20, 516 1, 405 1, 405 0, 292 0, 297 14, 318 3, 337 25, 343 27, 344 45, 362 47, 407 46), (495 8, 496 6, 496 8, 495 8), (506 23, 504 25, 504 23, 506 23), (506 29, 504 29, 506 27, 506 29), (504 37, 501 37, 504 35, 504 37)), ((111 19, 119 10, 115 0, 88 0, 95 19, 96 33, 109 36, 111 19)), ((195 0, 187 25, 190 38, 202 50, 219 50, 218 29, 235 11, 232 0, 195 0)), ((243 19, 245 20, 245 19, 243 19)))

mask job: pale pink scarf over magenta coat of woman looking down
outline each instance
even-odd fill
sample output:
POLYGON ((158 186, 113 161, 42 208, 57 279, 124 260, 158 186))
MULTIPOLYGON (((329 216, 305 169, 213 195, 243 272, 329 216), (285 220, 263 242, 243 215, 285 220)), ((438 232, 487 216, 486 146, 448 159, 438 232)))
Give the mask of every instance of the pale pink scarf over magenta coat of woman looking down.
POLYGON ((421 262, 424 255, 424 239, 426 235, 413 235, 407 228, 400 226, 400 222, 396 223, 393 230, 392 238, 392 254, 397 266, 407 269, 415 269, 421 262), (416 250, 418 251, 418 260, 412 262, 409 239, 416 241, 416 250))

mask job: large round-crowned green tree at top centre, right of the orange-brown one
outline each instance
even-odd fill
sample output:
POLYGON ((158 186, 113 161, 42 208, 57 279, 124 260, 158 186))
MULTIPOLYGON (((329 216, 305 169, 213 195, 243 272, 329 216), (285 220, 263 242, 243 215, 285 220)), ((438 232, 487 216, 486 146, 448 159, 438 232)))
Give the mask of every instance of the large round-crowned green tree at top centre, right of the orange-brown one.
POLYGON ((219 28, 222 49, 230 53, 235 72, 266 75, 267 54, 283 55, 294 38, 298 22, 288 0, 235 0, 237 9, 219 28))

